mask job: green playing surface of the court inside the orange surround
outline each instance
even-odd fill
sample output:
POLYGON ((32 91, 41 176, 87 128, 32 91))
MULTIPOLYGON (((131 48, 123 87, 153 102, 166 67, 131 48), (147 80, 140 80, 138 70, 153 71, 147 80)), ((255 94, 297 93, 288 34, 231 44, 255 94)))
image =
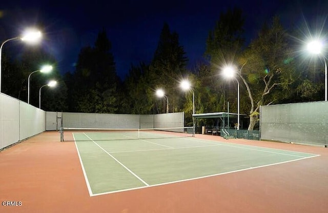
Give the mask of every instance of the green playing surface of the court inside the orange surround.
MULTIPOLYGON (((188 138, 105 140, 74 133, 90 196, 270 166, 317 154, 188 138)), ((129 138, 129 135, 127 136, 129 138)))

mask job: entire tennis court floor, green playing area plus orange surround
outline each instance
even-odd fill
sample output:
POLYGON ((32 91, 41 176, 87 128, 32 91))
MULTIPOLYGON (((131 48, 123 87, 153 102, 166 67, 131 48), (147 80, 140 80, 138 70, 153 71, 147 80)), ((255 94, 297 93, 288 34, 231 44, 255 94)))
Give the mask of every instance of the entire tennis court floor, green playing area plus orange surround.
POLYGON ((40 133, 0 152, 0 212, 326 212, 326 148, 181 136, 40 133))

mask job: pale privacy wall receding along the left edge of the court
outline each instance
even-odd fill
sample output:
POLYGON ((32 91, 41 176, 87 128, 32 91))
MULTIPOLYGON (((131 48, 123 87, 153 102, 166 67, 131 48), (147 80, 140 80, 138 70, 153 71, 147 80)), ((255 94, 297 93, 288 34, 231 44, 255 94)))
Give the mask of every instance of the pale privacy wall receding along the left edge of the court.
POLYGON ((0 149, 45 130, 45 111, 0 93, 0 149))

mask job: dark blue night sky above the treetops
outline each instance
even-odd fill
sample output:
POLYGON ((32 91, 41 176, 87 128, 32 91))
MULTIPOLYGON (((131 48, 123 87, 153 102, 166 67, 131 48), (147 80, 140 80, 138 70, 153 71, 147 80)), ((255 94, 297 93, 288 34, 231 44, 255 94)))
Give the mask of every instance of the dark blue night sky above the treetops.
POLYGON ((117 74, 124 78, 131 63, 151 61, 164 22, 179 34, 191 68, 202 60, 209 30, 214 28, 219 14, 228 8, 236 6, 243 10, 249 42, 264 20, 275 14, 281 16, 286 27, 304 20, 313 25, 318 20, 323 23, 328 13, 327 3, 317 0, 2 1, 0 41, 20 35, 27 26, 43 23, 46 28, 42 45, 56 57, 57 69, 65 73, 74 71, 80 49, 93 46, 98 32, 104 28, 112 43, 117 74))

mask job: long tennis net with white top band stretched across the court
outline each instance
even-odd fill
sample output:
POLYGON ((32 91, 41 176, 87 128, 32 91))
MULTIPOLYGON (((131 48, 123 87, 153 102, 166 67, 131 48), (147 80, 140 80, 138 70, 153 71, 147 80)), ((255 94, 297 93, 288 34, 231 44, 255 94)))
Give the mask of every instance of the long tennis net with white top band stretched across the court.
POLYGON ((145 129, 60 128, 60 141, 110 141, 181 138, 193 137, 193 132, 193 127, 145 129), (73 138, 71 137, 72 133, 74 133, 73 138))

